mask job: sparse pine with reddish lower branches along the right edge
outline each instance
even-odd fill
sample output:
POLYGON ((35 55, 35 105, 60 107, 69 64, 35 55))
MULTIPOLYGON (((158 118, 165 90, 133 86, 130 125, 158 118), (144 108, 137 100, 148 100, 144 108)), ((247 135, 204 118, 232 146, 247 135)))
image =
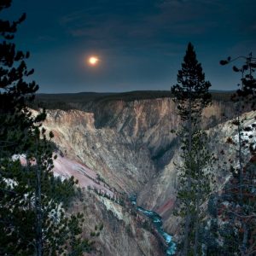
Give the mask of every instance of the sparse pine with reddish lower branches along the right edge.
MULTIPOLYGON (((211 221, 218 227, 215 232, 218 234, 218 252, 225 255, 253 255, 256 252, 256 150, 253 140, 256 125, 244 125, 247 118, 242 118, 242 112, 245 109, 255 110, 256 79, 253 72, 256 59, 249 54, 247 57, 239 56, 236 59, 229 57, 225 61, 220 61, 220 64, 226 65, 237 59, 245 61, 241 67, 233 67, 236 73, 241 73, 240 88, 232 96, 236 111, 236 119, 232 122, 236 129, 236 139, 229 137, 227 140, 230 147, 236 151, 236 159, 233 160, 234 164, 230 165, 230 180, 224 185, 222 195, 218 196, 218 214, 211 221), (249 162, 248 154, 251 154, 249 162)), ((253 119, 255 118, 254 115, 253 119)))

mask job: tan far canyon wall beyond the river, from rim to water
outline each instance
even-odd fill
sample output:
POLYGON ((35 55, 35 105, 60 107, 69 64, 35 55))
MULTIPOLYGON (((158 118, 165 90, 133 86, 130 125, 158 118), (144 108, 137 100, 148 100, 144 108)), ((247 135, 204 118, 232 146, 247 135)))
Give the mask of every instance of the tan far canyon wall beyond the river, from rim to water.
MULTIPOLYGON (((171 218, 178 186, 174 161, 180 159, 171 130, 179 128, 180 119, 172 100, 110 101, 86 111, 49 110, 44 126, 54 132, 65 157, 89 167, 110 187, 137 194, 138 204, 159 212, 167 230, 175 232, 176 221, 171 218)), ((224 143, 223 136, 230 130, 223 123, 232 115, 230 102, 213 102, 204 110, 202 125, 214 143, 224 143)))

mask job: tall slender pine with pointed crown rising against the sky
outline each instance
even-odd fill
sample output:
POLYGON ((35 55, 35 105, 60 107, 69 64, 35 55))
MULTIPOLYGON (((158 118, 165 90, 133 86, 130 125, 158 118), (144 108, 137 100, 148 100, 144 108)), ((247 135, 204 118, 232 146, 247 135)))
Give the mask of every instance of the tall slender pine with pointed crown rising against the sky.
POLYGON ((193 248, 197 255, 200 207, 210 191, 210 177, 203 170, 210 164, 211 155, 207 151, 207 135, 200 126, 202 109, 211 102, 210 86, 189 43, 182 69, 177 73, 177 84, 172 86, 174 102, 183 121, 178 133, 183 150, 183 166, 179 167, 182 188, 177 194, 178 215, 184 218, 183 255, 190 254, 193 248))

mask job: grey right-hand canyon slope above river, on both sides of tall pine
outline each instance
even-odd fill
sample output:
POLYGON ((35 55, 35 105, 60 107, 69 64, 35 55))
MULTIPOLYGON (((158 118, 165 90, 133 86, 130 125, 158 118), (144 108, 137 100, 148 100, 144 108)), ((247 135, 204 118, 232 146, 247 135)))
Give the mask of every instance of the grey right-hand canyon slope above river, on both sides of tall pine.
MULTIPOLYGON (((255 125, 255 112, 243 113, 241 119, 244 119, 244 127, 255 125)), ((228 182, 230 178, 230 165, 239 166, 237 159, 237 146, 227 143, 228 138, 235 143, 238 143, 237 127, 232 125, 232 119, 224 123, 215 125, 208 128, 207 134, 209 137, 209 149, 215 156, 215 161, 211 167, 211 172, 215 178, 216 183, 212 185, 212 189, 221 190, 224 183, 228 182)), ((255 137, 255 131, 244 131, 243 138, 252 141, 255 137)), ((255 140, 254 140, 255 143, 255 140)), ((177 190, 179 189, 178 183, 178 170, 174 166, 182 163, 180 158, 181 150, 177 148, 172 160, 166 165, 160 174, 151 180, 139 193, 138 204, 146 208, 152 208, 158 212, 164 221, 164 228, 171 234, 176 234, 178 231, 179 221, 177 217, 173 216, 172 208, 176 201, 177 190), (150 191, 150 193, 148 193, 150 191)), ((249 150, 243 150, 242 157, 244 162, 250 159, 249 150)), ((205 171, 207 172, 207 168, 205 171)))

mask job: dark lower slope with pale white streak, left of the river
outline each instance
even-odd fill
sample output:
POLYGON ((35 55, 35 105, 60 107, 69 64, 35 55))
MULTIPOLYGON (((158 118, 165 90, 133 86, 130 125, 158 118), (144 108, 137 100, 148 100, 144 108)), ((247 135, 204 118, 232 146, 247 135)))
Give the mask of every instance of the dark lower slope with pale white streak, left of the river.
POLYGON ((89 236, 95 241, 95 249, 90 255, 105 256, 163 256, 164 247, 157 236, 145 230, 137 216, 119 204, 96 195, 93 191, 84 191, 82 201, 73 207, 73 212, 84 213, 84 233, 97 233, 95 227, 102 225, 99 235, 89 236))

